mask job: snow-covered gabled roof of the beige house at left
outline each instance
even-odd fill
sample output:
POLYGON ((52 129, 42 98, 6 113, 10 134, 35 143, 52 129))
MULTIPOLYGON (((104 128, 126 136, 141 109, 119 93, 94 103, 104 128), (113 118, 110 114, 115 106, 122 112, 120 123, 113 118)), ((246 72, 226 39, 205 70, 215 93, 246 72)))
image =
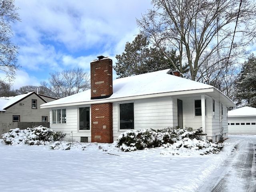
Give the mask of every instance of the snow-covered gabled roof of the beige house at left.
POLYGON ((1 97, 0 98, 0 111, 6 111, 6 109, 10 108, 14 104, 22 101, 24 98, 29 97, 32 94, 36 94, 39 98, 41 98, 44 102, 44 100, 41 96, 39 96, 36 92, 28 92, 26 94, 22 95, 16 95, 16 96, 11 96, 11 97, 1 97))

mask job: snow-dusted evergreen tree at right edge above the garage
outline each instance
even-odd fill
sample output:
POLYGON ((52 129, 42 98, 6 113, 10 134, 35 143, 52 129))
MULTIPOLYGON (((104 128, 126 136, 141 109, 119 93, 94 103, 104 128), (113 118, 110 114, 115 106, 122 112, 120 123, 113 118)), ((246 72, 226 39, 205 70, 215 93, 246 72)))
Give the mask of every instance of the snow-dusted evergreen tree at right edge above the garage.
POLYGON ((254 54, 251 54, 248 61, 244 62, 235 83, 237 105, 256 107, 256 57, 254 54))

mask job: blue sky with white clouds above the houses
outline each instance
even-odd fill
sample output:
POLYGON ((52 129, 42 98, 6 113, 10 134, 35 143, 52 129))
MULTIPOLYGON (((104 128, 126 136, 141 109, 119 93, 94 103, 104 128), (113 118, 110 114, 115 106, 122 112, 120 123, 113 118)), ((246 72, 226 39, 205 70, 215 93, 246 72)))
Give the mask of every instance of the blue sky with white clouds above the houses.
MULTIPOLYGON (((22 22, 12 24, 19 49, 13 88, 39 85, 50 72, 80 67, 104 55, 116 62, 138 34, 136 18, 150 0, 15 0, 22 22)), ((0 74, 3 78, 3 74, 0 74)))

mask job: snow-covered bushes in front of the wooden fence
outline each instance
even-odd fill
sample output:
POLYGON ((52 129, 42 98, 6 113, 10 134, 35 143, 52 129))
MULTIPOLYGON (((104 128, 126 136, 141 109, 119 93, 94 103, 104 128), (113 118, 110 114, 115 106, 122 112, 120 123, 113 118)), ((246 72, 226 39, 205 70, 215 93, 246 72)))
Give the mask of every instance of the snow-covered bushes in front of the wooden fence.
POLYGON ((2 134, 5 144, 28 144, 39 145, 45 142, 58 141, 66 134, 62 132, 55 132, 51 128, 43 126, 36 126, 34 128, 26 128, 21 130, 20 128, 11 129, 8 133, 2 134))

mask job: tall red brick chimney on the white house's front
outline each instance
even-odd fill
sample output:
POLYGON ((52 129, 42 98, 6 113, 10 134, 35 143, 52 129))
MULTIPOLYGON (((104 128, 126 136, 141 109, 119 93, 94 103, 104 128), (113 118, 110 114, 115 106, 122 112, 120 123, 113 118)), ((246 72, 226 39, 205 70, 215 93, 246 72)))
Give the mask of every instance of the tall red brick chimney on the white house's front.
MULTIPOLYGON (((112 60, 98 56, 91 62, 91 99, 108 98, 113 94, 112 60)), ((113 142, 112 103, 91 104, 92 142, 113 142)))

